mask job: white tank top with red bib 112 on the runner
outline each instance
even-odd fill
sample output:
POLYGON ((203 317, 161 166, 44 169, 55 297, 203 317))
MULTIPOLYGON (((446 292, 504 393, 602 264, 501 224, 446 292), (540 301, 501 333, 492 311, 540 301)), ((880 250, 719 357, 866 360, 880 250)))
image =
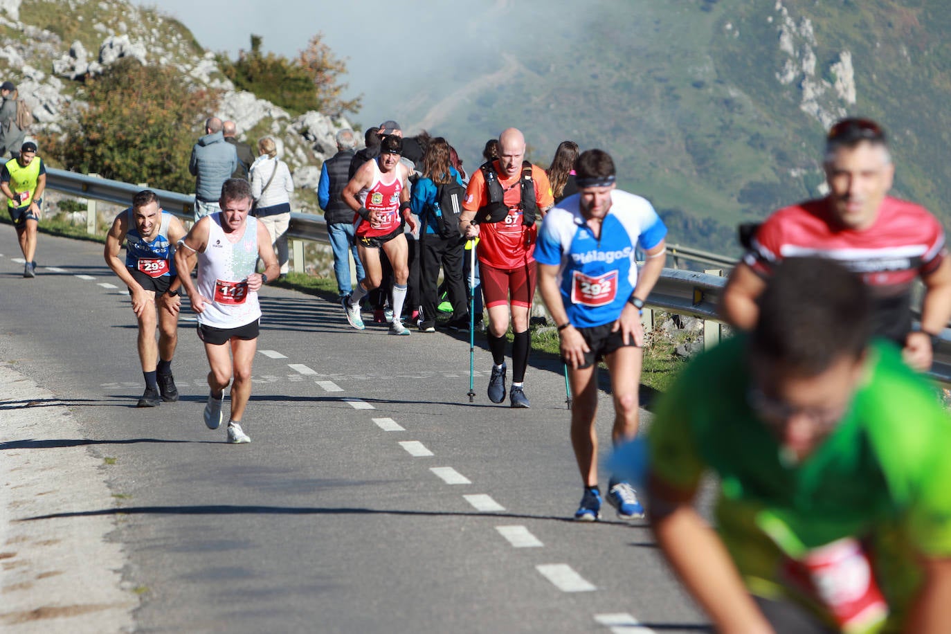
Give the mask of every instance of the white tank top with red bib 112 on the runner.
POLYGON ((198 292, 204 305, 198 322, 212 328, 239 328, 261 317, 258 294, 247 277, 258 263, 258 221, 248 216, 241 240, 232 244, 222 229, 222 215, 209 214, 208 242, 198 254, 198 292))

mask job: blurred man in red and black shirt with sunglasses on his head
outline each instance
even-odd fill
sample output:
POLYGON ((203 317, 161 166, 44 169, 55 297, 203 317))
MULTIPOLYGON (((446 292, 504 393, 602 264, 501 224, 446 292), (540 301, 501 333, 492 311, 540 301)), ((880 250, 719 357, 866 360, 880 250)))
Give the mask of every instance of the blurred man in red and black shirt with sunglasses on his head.
POLYGON ((782 259, 836 259, 871 287, 875 334, 898 344, 909 365, 927 371, 951 318, 951 261, 941 221, 921 205, 888 196, 894 174, 881 125, 858 118, 833 125, 825 140, 828 195, 780 209, 758 227, 724 291, 726 320, 752 328, 756 299, 782 259), (915 279, 922 280, 924 297, 921 322, 913 325, 915 279))

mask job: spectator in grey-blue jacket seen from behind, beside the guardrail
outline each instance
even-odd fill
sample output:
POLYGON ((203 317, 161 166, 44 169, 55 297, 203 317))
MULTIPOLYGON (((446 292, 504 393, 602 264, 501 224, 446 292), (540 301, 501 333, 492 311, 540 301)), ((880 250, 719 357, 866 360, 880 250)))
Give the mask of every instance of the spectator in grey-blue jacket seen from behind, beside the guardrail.
POLYGON ((224 142, 222 120, 209 117, 204 122, 204 137, 191 148, 188 171, 195 178, 195 221, 222 208, 222 185, 238 168, 238 152, 224 142))

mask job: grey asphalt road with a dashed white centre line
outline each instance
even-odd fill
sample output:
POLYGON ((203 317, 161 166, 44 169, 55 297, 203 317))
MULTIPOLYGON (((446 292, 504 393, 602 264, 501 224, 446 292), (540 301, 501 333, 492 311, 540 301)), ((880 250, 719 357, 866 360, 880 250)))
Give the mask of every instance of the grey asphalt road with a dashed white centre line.
MULTIPOLYGON (((112 491, 10 519, 110 518, 137 631, 706 631, 645 523, 610 508, 571 521, 581 486, 552 360, 532 361, 533 408, 511 410, 486 397, 491 356, 477 347, 470 404, 467 335, 357 332, 338 305, 268 287, 253 442, 230 446, 202 422, 190 312, 173 364, 182 399, 137 410, 134 316, 102 245, 41 235, 38 276, 22 279, 8 225, 0 254, 0 361, 68 407, 112 491)), ((607 394, 602 406, 607 447, 607 394)), ((49 451, 0 433, 5 451, 49 451)))

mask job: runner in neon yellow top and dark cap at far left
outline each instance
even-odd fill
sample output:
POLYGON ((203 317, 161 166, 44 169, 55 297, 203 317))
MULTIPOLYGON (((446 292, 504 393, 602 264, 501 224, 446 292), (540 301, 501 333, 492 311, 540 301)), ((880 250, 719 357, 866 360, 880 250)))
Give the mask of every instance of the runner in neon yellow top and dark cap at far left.
POLYGON ((36 156, 36 144, 20 146, 19 156, 4 163, 0 169, 0 191, 7 197, 7 211, 16 227, 16 237, 23 251, 23 277, 36 277, 36 227, 40 221, 40 205, 47 188, 47 167, 36 156))

